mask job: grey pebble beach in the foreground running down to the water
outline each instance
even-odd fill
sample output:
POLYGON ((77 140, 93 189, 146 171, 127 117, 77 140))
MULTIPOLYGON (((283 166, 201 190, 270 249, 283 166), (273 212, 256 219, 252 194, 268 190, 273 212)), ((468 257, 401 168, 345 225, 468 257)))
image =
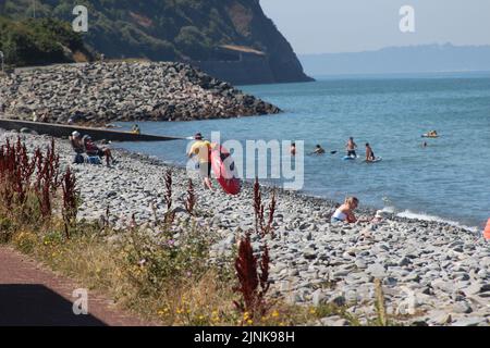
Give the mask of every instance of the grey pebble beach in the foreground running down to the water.
MULTIPOLYGON (((0 130, 0 142, 14 133, 0 130)), ((22 135, 30 148, 49 138, 22 135)), ((65 140, 57 140, 62 163, 71 162, 65 140)), ((82 191, 81 217, 99 220, 109 208, 112 224, 124 227, 131 215, 139 223, 154 219, 151 204, 164 212, 164 172, 171 167, 144 154, 114 150, 113 167, 72 166, 82 191)), ((187 187, 184 169, 173 169, 174 200, 180 214, 187 187)), ((192 177, 196 178, 193 173, 192 177)), ((221 236, 213 257, 228 253, 241 231, 254 226, 253 188, 246 184, 237 197, 220 189, 204 190, 196 183, 197 223, 221 236)), ((268 201, 270 189, 264 189, 268 201)), ((274 296, 303 304, 348 306, 366 324, 375 315, 375 279, 380 279, 387 312, 397 322, 419 325, 480 325, 490 322, 490 245, 481 234, 439 223, 385 216, 379 223, 332 225, 334 202, 279 191, 277 238, 271 248, 274 296)), ((360 215, 372 211, 362 210, 360 215)), ((259 248, 259 243, 254 243, 259 248)), ((346 325, 340 316, 318 325, 346 325)))

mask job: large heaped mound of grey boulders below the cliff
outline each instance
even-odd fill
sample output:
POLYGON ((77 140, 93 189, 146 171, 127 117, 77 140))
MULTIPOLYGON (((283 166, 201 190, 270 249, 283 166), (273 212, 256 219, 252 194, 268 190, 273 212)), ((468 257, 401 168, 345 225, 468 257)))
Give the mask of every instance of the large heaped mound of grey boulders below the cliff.
POLYGON ((0 116, 102 125, 279 113, 229 83, 175 62, 110 62, 26 69, 0 79, 0 116), (2 115, 3 114, 3 115, 2 115))

